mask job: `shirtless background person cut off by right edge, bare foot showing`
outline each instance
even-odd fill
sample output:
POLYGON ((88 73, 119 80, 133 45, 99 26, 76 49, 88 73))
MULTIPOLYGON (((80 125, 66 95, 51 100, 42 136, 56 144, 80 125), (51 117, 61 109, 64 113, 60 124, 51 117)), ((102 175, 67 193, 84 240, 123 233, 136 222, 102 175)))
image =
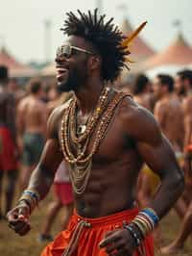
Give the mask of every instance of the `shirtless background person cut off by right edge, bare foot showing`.
POLYGON ((180 226, 180 232, 175 241, 166 247, 163 247, 162 253, 175 254, 183 248, 185 241, 191 235, 192 230, 192 71, 180 71, 180 79, 186 89, 186 97, 183 99, 182 108, 184 114, 184 170, 185 170, 185 192, 183 199, 185 205, 183 207, 184 216, 180 226))

